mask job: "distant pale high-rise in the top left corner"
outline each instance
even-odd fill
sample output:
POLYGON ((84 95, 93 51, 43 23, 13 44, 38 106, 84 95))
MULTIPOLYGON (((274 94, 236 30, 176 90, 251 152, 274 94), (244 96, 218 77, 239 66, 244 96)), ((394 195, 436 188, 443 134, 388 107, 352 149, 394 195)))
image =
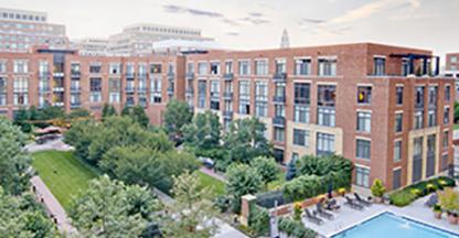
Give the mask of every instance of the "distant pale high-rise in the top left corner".
POLYGON ((65 48, 65 25, 47 22, 45 12, 0 8, 0 52, 28 52, 32 46, 65 48))

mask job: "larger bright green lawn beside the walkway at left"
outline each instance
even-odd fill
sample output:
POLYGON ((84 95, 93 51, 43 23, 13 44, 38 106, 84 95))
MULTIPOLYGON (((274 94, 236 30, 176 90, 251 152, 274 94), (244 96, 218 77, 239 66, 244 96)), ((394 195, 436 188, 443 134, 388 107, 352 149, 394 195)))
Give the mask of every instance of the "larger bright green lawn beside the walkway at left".
POLYGON ((74 158, 72 152, 42 151, 32 156, 33 167, 67 212, 72 196, 84 191, 88 181, 98 174, 94 167, 74 158))

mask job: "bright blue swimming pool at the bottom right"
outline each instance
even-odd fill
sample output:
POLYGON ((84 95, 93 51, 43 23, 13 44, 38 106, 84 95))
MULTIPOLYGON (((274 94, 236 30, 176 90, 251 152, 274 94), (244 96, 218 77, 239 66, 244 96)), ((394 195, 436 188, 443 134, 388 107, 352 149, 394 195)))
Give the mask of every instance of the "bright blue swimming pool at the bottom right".
MULTIPOLYGON (((447 223, 447 221, 445 221, 447 223)), ((396 216, 392 213, 382 213, 369 220, 353 226, 333 238, 452 238, 459 237, 439 228, 396 216)))

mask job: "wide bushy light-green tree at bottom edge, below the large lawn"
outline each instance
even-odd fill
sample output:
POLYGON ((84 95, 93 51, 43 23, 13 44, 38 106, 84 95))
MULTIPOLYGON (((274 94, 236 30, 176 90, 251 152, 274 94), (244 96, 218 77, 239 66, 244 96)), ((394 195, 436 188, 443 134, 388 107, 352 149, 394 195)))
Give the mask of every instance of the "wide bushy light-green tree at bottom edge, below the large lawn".
POLYGON ((70 217, 83 237, 139 237, 159 208, 147 188, 104 175, 73 199, 70 217))

